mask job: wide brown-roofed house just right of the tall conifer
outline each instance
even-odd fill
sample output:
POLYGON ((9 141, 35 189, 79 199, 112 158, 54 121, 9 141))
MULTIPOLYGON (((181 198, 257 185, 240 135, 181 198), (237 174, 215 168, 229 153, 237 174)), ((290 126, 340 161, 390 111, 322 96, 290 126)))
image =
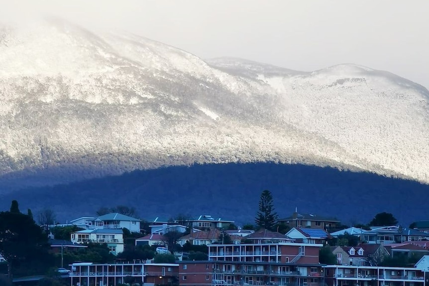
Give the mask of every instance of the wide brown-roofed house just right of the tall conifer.
POLYGON ((336 218, 324 217, 316 214, 305 213, 301 214, 295 211, 291 216, 278 220, 290 228, 293 227, 309 227, 309 228, 322 228, 329 229, 336 226, 340 221, 336 218))

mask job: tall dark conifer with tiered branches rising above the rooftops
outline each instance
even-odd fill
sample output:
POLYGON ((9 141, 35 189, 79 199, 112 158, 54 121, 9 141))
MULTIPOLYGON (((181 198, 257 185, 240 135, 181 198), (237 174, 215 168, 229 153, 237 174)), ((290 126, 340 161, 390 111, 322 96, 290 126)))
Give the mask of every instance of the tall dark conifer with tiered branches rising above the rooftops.
POLYGON ((256 213, 255 223, 259 228, 273 231, 278 215, 274 210, 273 196, 271 192, 265 190, 259 199, 259 210, 256 213))

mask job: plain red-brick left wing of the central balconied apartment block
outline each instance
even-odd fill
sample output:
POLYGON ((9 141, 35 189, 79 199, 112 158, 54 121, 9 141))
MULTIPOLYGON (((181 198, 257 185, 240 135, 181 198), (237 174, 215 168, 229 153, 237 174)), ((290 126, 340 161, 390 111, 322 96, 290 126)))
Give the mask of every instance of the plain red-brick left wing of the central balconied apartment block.
POLYGON ((192 263, 189 261, 179 264, 179 284, 193 286, 210 286, 213 280, 213 263, 192 263))

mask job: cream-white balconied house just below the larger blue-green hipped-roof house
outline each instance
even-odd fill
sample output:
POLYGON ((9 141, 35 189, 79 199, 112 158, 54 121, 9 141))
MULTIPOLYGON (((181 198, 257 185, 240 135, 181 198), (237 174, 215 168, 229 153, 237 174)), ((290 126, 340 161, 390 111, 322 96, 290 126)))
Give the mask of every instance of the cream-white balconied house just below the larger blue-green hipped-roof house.
POLYGON ((122 229, 85 229, 71 233, 74 243, 106 243, 114 255, 123 252, 122 229))

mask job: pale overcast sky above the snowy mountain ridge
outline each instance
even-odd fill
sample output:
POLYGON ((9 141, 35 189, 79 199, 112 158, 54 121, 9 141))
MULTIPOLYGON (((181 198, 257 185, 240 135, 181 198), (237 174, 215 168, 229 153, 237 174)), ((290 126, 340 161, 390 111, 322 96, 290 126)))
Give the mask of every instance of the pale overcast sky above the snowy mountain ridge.
POLYGON ((313 71, 355 63, 429 88, 429 0, 0 0, 0 21, 53 13, 201 58, 313 71))

